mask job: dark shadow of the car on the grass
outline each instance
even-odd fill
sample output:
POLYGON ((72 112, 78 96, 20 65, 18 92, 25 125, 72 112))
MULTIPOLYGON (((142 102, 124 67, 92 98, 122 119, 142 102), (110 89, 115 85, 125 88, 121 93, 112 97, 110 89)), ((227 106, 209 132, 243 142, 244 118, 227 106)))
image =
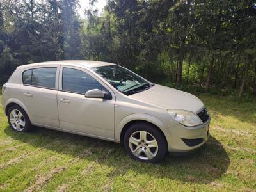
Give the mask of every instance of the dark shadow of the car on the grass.
POLYGON ((35 127, 33 132, 20 133, 6 127, 4 132, 14 140, 35 148, 44 148, 60 154, 104 164, 111 167, 108 177, 120 177, 127 172, 154 179, 171 179, 179 182, 209 184, 219 179, 228 169, 230 158, 225 148, 214 137, 188 156, 168 155, 159 164, 132 160, 122 145, 104 140, 78 136, 60 131, 35 127))

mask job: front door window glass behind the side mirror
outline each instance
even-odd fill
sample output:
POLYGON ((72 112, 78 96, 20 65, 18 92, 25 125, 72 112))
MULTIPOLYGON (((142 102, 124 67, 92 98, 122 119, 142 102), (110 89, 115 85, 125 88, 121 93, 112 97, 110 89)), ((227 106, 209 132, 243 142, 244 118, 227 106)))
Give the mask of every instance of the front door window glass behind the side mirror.
POLYGON ((86 93, 88 90, 102 90, 102 85, 89 74, 73 68, 63 68, 62 90, 86 93))

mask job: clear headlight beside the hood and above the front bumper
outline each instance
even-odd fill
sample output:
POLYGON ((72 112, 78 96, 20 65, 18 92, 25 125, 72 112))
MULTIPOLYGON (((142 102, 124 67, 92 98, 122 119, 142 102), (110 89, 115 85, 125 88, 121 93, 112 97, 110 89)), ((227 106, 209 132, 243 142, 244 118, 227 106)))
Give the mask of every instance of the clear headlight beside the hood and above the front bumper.
POLYGON ((186 127, 193 127, 202 124, 202 120, 191 111, 184 111, 180 109, 167 109, 168 113, 182 125, 186 127))

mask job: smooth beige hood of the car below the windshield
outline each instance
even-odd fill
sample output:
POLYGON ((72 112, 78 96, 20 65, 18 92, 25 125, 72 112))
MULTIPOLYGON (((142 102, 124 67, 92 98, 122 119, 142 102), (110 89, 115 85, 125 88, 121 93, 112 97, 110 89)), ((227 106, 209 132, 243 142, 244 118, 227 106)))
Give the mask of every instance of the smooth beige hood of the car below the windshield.
POLYGON ((203 102, 194 95, 159 84, 129 97, 168 109, 182 109, 194 113, 199 113, 204 109, 203 102))

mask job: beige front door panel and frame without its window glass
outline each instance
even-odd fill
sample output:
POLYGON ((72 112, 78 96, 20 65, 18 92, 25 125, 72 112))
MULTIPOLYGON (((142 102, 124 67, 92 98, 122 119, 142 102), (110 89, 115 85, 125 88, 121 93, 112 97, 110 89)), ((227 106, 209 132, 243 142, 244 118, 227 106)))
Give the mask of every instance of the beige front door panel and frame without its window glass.
MULTIPOLYGON (((66 67, 86 72, 82 68, 66 67)), ((65 66, 61 67, 60 82, 63 82, 63 68, 65 68, 65 66)), ((87 72, 87 74, 88 73, 89 72, 87 72)), ((92 76, 92 74, 90 74, 90 76, 92 76)), ((114 138, 115 98, 111 100, 86 98, 83 93, 72 93, 60 90, 57 95, 57 100, 61 129, 100 136, 102 138, 114 138)))

